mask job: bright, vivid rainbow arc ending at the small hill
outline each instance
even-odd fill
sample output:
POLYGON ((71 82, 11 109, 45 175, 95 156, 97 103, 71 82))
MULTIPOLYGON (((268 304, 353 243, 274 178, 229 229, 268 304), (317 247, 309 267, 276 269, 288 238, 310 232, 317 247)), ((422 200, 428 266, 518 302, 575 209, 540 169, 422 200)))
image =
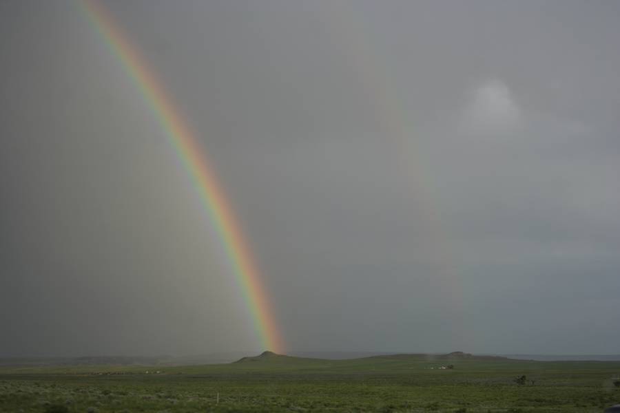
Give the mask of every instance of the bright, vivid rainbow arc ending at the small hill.
POLYGON ((125 72, 156 114, 176 155, 192 179, 205 212, 226 251, 227 260, 242 290, 263 348, 283 352, 282 337, 262 286, 260 271, 227 197, 207 162, 205 151, 172 104, 154 70, 130 44, 110 13, 96 0, 83 0, 81 4, 96 31, 105 39, 110 52, 123 64, 125 72))

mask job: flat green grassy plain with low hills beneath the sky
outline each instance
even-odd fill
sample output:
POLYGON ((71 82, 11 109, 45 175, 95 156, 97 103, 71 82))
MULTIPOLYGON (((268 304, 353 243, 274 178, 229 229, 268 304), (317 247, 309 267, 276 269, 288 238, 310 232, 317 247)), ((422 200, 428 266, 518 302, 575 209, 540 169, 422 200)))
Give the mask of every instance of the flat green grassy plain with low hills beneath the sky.
POLYGON ((620 361, 462 354, 3 367, 0 412, 602 412, 620 403, 619 374, 620 361))

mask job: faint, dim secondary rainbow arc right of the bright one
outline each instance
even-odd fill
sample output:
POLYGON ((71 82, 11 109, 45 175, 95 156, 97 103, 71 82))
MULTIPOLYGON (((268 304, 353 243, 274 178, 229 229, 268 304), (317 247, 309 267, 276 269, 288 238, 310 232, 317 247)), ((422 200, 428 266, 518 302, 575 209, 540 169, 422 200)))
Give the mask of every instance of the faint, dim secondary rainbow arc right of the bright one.
POLYGON ((464 319, 464 288, 458 265, 455 262, 454 246, 442 218, 442 208, 437 202, 436 187, 430 173, 432 166, 417 147, 417 134, 411 125, 406 104, 399 87, 391 76, 392 68, 386 65, 389 59, 380 54, 384 47, 373 44, 372 36, 366 32, 363 15, 355 9, 355 2, 326 1, 322 17, 330 30, 334 45, 350 62, 353 75, 359 80, 369 96, 375 110, 375 120, 382 131, 385 145, 391 146, 395 160, 400 164, 402 175, 411 183, 417 207, 424 216, 421 226, 426 235, 427 257, 433 261, 431 282, 445 299, 444 316, 457 321, 455 335, 464 343, 471 342, 471 328, 464 319))

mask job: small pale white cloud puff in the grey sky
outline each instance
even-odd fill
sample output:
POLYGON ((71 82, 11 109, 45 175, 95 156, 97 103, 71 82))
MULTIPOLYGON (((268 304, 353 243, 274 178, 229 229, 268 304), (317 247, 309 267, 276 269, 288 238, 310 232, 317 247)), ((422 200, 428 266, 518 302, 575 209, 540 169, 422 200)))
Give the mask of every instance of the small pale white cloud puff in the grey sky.
POLYGON ((474 90, 461 126, 465 131, 484 136, 499 136, 515 131, 523 122, 521 109, 504 81, 493 79, 474 90))

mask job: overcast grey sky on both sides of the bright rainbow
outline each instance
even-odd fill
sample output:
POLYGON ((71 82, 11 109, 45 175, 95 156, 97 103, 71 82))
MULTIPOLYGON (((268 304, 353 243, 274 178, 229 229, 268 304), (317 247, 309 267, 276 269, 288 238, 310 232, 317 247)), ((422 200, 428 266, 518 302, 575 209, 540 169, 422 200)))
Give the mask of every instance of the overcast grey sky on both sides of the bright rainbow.
MULTIPOLYGON (((614 353, 620 3, 107 1, 198 132, 291 350, 614 353)), ((72 1, 0 3, 0 355, 260 350, 72 1)))

